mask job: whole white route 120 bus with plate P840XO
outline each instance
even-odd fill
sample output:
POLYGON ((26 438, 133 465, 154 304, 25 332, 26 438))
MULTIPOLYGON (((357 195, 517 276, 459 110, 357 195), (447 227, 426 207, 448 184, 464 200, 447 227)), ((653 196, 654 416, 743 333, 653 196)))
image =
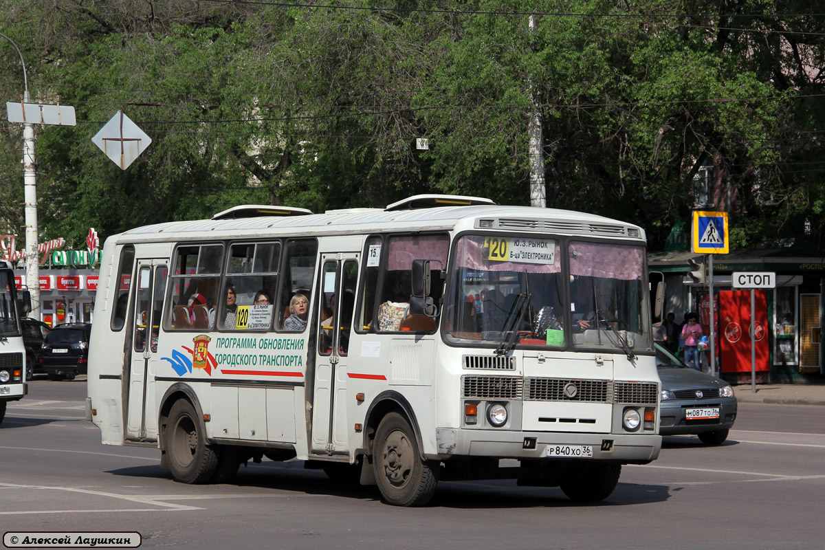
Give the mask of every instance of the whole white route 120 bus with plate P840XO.
POLYGON ((131 229, 103 249, 87 417, 180 482, 266 456, 394 505, 485 478, 598 501, 661 448, 646 273, 637 226, 474 197, 131 229))

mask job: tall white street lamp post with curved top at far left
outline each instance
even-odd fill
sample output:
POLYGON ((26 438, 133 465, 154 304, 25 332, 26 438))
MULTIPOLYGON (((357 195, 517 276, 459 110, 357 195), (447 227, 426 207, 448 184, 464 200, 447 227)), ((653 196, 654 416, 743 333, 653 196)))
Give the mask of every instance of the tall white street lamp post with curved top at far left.
MULTIPOLYGON (((26 62, 14 40, 0 32, 17 50, 23 66, 23 104, 31 103, 26 62)), ((31 317, 40 319, 40 253, 37 250, 37 178, 35 174, 35 125, 23 124, 23 190, 26 214, 26 286, 31 294, 31 317)))

